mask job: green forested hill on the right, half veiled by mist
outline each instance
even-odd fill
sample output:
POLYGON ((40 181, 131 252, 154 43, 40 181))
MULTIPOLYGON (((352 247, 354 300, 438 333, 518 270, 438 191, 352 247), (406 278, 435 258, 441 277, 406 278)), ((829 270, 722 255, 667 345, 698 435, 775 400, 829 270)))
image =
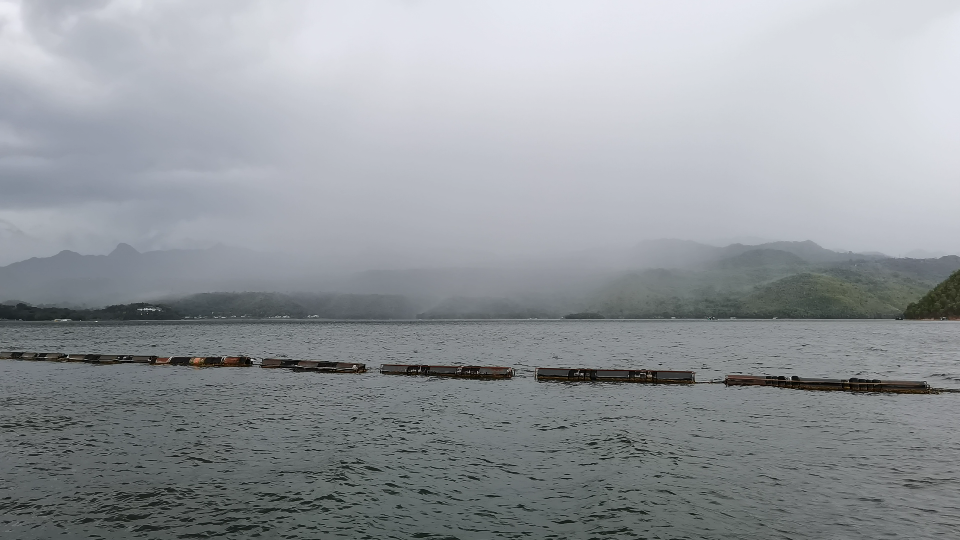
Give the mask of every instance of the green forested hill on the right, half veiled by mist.
POLYGON ((601 287, 581 309, 606 317, 895 317, 960 258, 810 263, 754 250, 698 270, 632 272, 601 287))

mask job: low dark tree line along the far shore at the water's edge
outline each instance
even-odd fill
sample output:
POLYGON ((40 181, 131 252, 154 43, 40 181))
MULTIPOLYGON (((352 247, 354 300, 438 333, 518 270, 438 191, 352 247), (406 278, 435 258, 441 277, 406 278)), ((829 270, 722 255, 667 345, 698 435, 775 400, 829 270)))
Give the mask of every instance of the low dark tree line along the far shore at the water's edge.
MULTIPOLYGON (((578 312, 551 312, 545 309, 525 309, 508 299, 487 301, 486 311, 475 313, 456 309, 456 298, 440 302, 442 309, 423 310, 422 304, 399 295, 289 295, 282 293, 240 292, 201 293, 165 302, 137 302, 116 304, 102 308, 70 308, 34 306, 25 302, 0 304, 0 320, 13 321, 160 321, 191 319, 650 319, 650 318, 897 318, 905 319, 960 319, 960 270, 951 274, 919 300, 909 303, 900 313, 890 310, 874 312, 858 310, 864 305, 856 291, 850 294, 842 287, 829 287, 824 280, 829 276, 797 275, 775 292, 763 297, 765 303, 744 302, 735 298, 717 301, 701 309, 684 309, 677 299, 673 305, 661 305, 659 310, 645 313, 611 313, 607 310, 578 312), (846 294, 845 294, 846 293, 846 294), (449 312, 444 316, 444 312, 449 312), (672 313, 676 313, 673 315, 672 313)), ((829 282, 828 282, 829 285, 829 282)), ((462 299, 463 304, 476 304, 476 299, 462 299)), ((669 304, 670 301, 664 302, 669 304)), ((476 308, 477 306, 473 306, 476 308)))

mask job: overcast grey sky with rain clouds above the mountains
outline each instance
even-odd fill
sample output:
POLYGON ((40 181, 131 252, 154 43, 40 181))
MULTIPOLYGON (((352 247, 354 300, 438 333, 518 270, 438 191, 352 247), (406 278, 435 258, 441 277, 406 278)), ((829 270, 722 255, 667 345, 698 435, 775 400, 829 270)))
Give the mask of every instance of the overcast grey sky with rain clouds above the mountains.
POLYGON ((955 0, 0 0, 0 264, 960 252, 958 96, 955 0))

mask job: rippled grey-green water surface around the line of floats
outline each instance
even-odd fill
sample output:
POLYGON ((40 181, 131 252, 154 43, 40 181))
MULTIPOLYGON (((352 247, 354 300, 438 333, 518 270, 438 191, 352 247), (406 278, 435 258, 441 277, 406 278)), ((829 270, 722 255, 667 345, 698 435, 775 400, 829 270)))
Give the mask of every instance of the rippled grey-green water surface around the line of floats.
POLYGON ((2 538, 957 538, 960 324, 0 323, 0 349, 511 365, 508 381, 0 361, 2 538))

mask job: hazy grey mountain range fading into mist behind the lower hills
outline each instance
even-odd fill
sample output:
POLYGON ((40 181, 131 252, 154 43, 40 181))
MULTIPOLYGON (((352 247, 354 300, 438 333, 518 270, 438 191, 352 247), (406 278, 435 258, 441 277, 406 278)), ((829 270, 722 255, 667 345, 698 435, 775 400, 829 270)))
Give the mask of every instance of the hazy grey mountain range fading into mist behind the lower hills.
POLYGON ((814 242, 714 247, 685 240, 640 242, 633 248, 518 260, 502 266, 365 270, 333 274, 308 254, 263 253, 217 245, 140 253, 119 244, 108 255, 61 251, 0 267, 0 299, 106 305, 213 291, 331 291, 422 297, 525 297, 583 292, 625 270, 696 269, 757 250, 808 263, 872 260, 814 242))

